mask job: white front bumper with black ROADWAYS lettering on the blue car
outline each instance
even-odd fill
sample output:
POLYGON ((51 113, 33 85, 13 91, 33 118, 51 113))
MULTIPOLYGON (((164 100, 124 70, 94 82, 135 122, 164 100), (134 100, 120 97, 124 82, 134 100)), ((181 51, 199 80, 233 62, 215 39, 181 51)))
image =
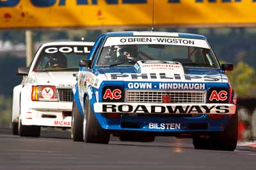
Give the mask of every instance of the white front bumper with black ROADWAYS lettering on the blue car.
POLYGON ((236 113, 235 104, 94 103, 94 113, 225 114, 236 113))

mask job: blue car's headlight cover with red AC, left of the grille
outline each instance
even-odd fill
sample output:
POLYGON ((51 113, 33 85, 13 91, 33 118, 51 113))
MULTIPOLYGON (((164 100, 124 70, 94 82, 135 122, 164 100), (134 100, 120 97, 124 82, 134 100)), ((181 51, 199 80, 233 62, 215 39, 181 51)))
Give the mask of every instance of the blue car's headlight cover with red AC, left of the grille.
POLYGON ((119 86, 103 87, 102 102, 124 102, 124 88, 119 86))

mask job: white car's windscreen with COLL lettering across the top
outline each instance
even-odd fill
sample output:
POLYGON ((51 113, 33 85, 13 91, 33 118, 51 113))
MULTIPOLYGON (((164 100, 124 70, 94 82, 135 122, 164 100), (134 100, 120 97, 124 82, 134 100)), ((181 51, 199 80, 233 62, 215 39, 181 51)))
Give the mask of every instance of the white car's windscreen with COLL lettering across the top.
POLYGON ((42 49, 34 71, 77 71, 79 60, 86 59, 92 46, 59 45, 42 49))

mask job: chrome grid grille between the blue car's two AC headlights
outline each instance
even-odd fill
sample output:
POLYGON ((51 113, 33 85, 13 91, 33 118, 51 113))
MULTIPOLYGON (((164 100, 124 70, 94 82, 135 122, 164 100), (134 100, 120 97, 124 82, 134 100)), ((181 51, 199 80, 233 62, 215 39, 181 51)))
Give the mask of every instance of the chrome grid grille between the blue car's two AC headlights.
POLYGON ((125 102, 164 103, 163 96, 170 96, 168 103, 205 103, 205 91, 148 91, 126 90, 125 102))

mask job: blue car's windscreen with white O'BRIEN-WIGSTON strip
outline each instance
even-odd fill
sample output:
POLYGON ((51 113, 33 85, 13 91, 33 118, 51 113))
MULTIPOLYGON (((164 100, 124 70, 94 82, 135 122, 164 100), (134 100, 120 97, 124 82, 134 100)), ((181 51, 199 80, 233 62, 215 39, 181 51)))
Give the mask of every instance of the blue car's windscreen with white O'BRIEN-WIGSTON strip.
POLYGON ((219 68, 218 61, 204 39, 168 37, 109 37, 97 65, 133 65, 138 60, 167 60, 188 67, 219 68))

